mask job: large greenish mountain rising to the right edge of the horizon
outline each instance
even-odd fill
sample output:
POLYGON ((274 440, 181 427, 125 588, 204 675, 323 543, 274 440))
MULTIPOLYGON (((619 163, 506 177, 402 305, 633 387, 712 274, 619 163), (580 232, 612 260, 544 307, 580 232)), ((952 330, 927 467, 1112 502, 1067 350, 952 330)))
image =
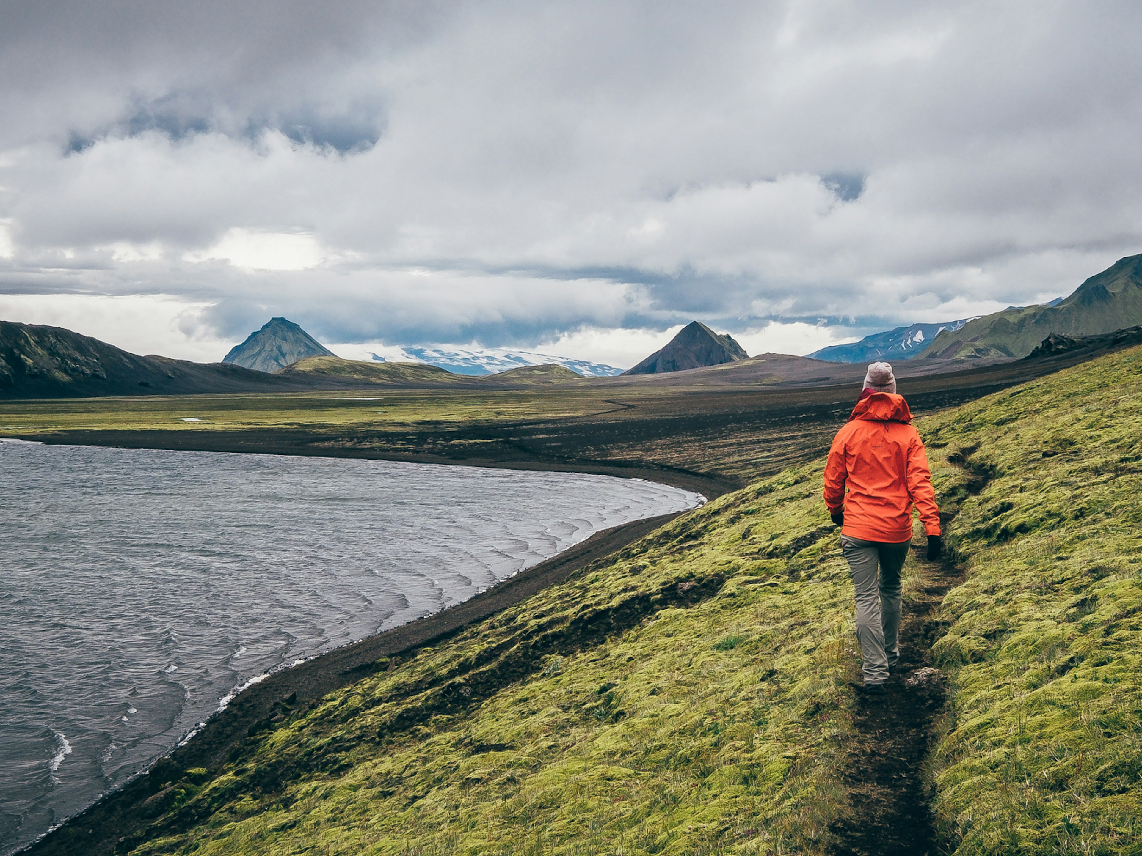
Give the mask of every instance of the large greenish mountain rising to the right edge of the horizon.
POLYGON ((935 337, 922 357, 1023 357, 1052 333, 1110 333, 1142 324, 1142 256, 1119 259, 1057 305, 1013 306, 935 337))

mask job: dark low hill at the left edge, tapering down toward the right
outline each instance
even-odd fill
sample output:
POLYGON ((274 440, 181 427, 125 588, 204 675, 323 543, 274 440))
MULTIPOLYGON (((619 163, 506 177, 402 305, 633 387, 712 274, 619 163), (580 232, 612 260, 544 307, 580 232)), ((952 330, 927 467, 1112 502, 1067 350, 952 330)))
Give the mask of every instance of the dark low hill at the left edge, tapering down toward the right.
POLYGON ((0 397, 308 389, 297 381, 222 363, 138 356, 58 326, 0 321, 0 397))

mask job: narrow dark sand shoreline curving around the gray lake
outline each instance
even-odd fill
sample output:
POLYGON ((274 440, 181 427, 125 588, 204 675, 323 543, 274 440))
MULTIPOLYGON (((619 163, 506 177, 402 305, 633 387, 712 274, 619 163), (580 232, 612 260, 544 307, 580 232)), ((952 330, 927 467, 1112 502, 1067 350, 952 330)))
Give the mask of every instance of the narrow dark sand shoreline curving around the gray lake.
MULTIPOLYGON (((265 443, 219 443, 215 436, 202 436, 196 431, 190 436, 178 436, 177 444, 154 444, 129 442, 126 436, 108 437, 118 431, 67 431, 37 437, 46 445, 97 445, 120 449, 164 449, 177 451, 233 452, 256 454, 300 455, 315 458, 347 458, 365 460, 405 461, 413 463, 439 463, 449 466, 485 467, 491 469, 520 469, 554 473, 589 473, 619 478, 641 478, 674 487, 682 487, 701 494, 709 502, 717 496, 737 490, 729 479, 705 476, 684 470, 648 468, 642 466, 602 465, 586 461, 541 460, 494 460, 494 459, 444 459, 435 455, 394 455, 364 449, 313 449, 284 444, 265 443), (100 436, 95 436, 100 435, 100 436), (193 443, 200 441, 214 443, 193 443), (98 441, 104 442, 98 442, 98 441), (107 442, 108 439, 128 441, 107 442), (219 447, 225 446, 225 447, 219 447), (251 447, 256 446, 256 447, 251 447)), ((142 434, 142 433, 132 433, 142 434)), ((167 434, 167 433, 164 433, 167 434)), ((227 433, 230 434, 230 433, 227 433)), ((312 438, 312 435, 311 435, 312 438)), ((134 439, 144 439, 135 436, 134 439)), ((154 439, 147 437, 146 439, 154 439)), ((175 438, 171 438, 175 439, 175 438)), ((238 437, 227 437, 234 441, 238 437)), ((35 841, 16 850, 16 854, 69 854, 75 847, 91 854, 112 854, 123 835, 148 823, 146 801, 158 793, 166 782, 177 780, 188 769, 204 767, 216 769, 227 761, 231 753, 247 737, 257 733, 268 722, 280 703, 289 700, 289 705, 300 709, 316 703, 335 689, 353 684, 376 669, 383 657, 399 662, 402 655, 442 641, 460 632, 475 622, 488 619, 509 606, 514 606, 532 595, 562 582, 574 572, 593 562, 621 550, 627 544, 644 538, 686 511, 675 511, 657 517, 648 517, 632 523, 612 526, 596 532, 590 538, 569 547, 544 562, 532 565, 509 576, 496 586, 478 592, 459 604, 441 609, 432 615, 416 619, 405 624, 389 628, 373 636, 349 643, 339 648, 317 654, 298 665, 280 668, 265 679, 248 685, 238 693, 225 709, 214 713, 206 724, 193 730, 184 742, 160 756, 146 773, 142 773, 99 799, 77 815, 69 817, 35 841), (75 837, 81 834, 81 839, 75 837)))

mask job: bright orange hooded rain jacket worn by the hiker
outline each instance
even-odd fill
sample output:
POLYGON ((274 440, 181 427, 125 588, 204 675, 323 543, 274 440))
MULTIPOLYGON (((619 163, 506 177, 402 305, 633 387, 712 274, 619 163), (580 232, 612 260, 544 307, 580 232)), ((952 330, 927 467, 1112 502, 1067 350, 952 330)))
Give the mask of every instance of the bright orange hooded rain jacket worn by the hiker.
POLYGON ((914 503, 927 534, 940 534, 927 455, 911 421, 902 396, 868 393, 837 431, 825 466, 825 504, 830 515, 844 509, 842 534, 861 541, 908 541, 914 503))

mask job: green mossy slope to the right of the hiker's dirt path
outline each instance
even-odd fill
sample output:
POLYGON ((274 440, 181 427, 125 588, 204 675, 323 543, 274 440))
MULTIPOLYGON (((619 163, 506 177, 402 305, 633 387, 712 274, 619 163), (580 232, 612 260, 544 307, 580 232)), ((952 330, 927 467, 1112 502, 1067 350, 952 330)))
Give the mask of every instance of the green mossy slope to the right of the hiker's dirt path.
POLYGON ((936 641, 957 854, 1142 853, 1142 349, 924 425, 962 462, 936 641))

